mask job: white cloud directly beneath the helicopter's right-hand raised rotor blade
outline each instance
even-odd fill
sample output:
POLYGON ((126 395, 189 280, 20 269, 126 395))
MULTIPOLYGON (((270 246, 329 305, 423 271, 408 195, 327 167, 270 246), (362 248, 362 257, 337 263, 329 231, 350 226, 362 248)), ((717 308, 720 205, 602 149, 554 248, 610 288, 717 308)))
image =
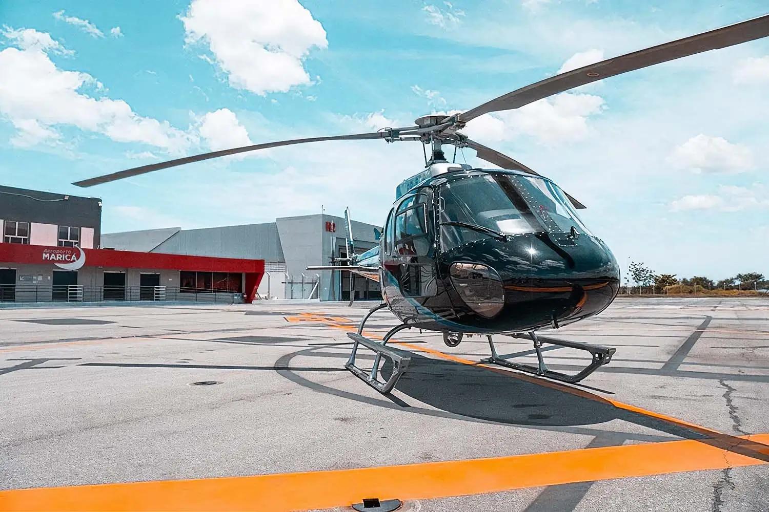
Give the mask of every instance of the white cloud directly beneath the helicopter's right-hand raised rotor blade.
POLYGON ((478 117, 468 123, 466 133, 490 142, 521 135, 543 144, 574 142, 588 137, 588 118, 603 109, 604 99, 594 94, 557 94, 512 111, 478 117))

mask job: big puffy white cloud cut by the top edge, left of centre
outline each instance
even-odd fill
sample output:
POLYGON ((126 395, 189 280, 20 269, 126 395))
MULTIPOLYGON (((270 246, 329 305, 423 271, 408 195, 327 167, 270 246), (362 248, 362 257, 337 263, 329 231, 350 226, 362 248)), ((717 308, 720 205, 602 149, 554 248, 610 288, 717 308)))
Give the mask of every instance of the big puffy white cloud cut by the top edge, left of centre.
POLYGON ((203 41, 229 84, 255 94, 311 84, 303 61, 327 48, 321 23, 297 0, 193 0, 185 15, 188 44, 203 41))

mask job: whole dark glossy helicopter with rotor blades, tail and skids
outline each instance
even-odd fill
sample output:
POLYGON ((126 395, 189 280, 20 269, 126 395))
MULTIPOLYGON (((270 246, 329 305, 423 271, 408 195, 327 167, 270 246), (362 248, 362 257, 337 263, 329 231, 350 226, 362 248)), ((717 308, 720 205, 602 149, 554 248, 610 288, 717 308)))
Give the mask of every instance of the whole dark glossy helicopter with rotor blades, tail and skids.
MULTIPOLYGON (((769 36, 769 15, 741 21, 640 51, 556 74, 503 94, 459 114, 419 117, 409 127, 384 127, 365 134, 280 140, 218 150, 158 164, 134 167, 73 183, 92 187, 155 170, 246 151, 325 140, 412 140, 430 147, 424 169, 396 189, 379 245, 360 255, 348 249, 347 265, 308 267, 348 270, 380 282, 384 302, 371 308, 349 332, 351 354, 345 368, 382 394, 407 370, 411 358, 389 347, 403 329, 443 333, 457 346, 465 335, 484 335, 491 357, 501 365, 542 378, 575 384, 611 362, 615 348, 544 337, 542 330, 598 315, 620 288, 620 268, 611 249, 578 216, 585 206, 547 177, 461 133, 483 114, 523 107, 581 85, 654 64, 769 36), (443 146, 468 147, 498 168, 448 162, 443 146), (364 335, 365 323, 387 308, 400 321, 381 340, 364 335), (528 339, 537 365, 499 355, 492 335, 528 339), (567 375, 548 368, 542 345, 576 348, 590 354, 580 372, 567 375), (371 368, 357 364, 358 349, 374 352, 371 368)), ((351 243, 349 216, 348 246, 351 243)), ((408 353, 408 352, 407 352, 408 353)))

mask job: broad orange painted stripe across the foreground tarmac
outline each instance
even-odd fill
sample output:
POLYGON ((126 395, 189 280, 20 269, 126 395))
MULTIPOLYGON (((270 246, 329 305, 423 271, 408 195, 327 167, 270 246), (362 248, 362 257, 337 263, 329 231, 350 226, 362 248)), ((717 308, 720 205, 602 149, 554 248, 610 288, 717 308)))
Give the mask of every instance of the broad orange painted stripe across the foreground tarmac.
MULTIPOLYGON (((769 441, 769 434, 746 437, 769 441)), ((345 507, 364 497, 427 500, 757 464, 765 463, 699 441, 667 441, 337 471, 0 491, 0 510, 288 512, 345 507)))

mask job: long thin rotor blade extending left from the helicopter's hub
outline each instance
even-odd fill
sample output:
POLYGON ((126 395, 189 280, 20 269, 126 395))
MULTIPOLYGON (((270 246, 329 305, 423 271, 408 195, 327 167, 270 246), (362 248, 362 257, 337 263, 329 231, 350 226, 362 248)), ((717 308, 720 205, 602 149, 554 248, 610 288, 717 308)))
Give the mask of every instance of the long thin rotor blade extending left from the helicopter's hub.
MULTIPOLYGON (((407 128, 407 130, 411 130, 407 128)), ((324 140, 367 140, 367 139, 382 139, 388 137, 389 134, 397 130, 382 130, 371 132, 368 134, 351 134, 351 135, 334 135, 331 137, 309 137, 306 139, 293 139, 293 140, 278 140, 277 142, 268 142, 266 144, 254 144, 252 146, 233 147, 228 150, 211 151, 211 153, 204 153, 193 155, 191 157, 177 158, 176 160, 168 160, 160 162, 158 164, 142 165, 141 167, 134 167, 132 169, 120 170, 116 173, 105 174, 95 178, 88 178, 88 180, 75 181, 73 185, 78 187, 93 187, 94 185, 100 185, 102 183, 108 183, 110 181, 122 180, 124 178, 138 176, 139 174, 151 173, 155 170, 168 169, 168 167, 176 167, 178 165, 191 164, 192 162, 199 162, 201 160, 208 160, 209 158, 226 157, 231 154, 245 153, 246 151, 264 150, 269 147, 291 146, 292 144, 305 144, 306 142, 322 142, 324 140)))

